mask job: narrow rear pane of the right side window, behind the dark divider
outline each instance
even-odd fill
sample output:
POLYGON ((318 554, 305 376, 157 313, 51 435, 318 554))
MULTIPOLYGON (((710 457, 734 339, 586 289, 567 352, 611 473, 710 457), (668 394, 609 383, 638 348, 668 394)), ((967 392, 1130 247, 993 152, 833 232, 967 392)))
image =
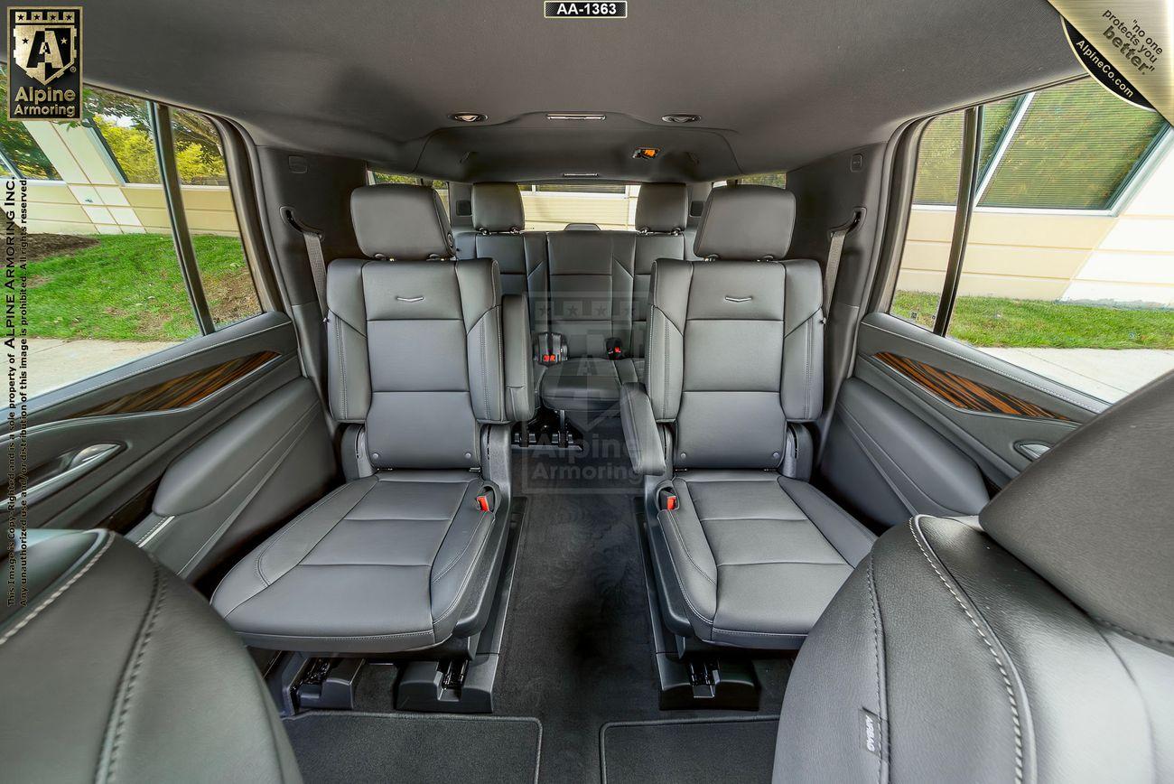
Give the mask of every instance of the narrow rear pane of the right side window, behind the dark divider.
POLYGON ((962 174, 963 113, 930 121, 918 147, 913 203, 889 312, 933 329, 945 284, 962 174))

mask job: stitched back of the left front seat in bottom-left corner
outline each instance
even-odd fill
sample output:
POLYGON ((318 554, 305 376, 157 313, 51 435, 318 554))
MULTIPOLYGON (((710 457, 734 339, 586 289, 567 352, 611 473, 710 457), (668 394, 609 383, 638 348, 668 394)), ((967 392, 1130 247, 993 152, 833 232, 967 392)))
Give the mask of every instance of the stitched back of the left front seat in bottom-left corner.
POLYGON ((27 601, 0 607, 5 780, 302 780, 241 641, 155 559, 109 530, 41 529, 9 567, 27 601))

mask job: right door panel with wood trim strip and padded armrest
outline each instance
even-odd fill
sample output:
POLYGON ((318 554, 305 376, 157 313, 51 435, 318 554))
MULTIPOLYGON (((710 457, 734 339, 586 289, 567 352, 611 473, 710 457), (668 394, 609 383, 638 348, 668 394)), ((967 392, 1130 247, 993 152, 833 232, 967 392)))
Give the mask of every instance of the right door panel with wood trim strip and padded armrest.
POLYGON ((885 525, 977 513, 979 474, 1001 487, 1106 407, 886 313, 864 318, 856 352, 822 472, 885 525))

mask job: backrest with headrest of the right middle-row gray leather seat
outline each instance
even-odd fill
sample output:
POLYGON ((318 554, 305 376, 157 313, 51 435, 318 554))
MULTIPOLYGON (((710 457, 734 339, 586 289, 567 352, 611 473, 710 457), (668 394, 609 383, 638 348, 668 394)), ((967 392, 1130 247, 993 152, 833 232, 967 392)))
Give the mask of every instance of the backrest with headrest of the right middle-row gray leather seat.
POLYGON ((787 423, 823 410, 819 264, 776 261, 794 222, 788 191, 718 188, 694 243, 709 261, 654 265, 647 387, 676 466, 777 467, 787 423))

